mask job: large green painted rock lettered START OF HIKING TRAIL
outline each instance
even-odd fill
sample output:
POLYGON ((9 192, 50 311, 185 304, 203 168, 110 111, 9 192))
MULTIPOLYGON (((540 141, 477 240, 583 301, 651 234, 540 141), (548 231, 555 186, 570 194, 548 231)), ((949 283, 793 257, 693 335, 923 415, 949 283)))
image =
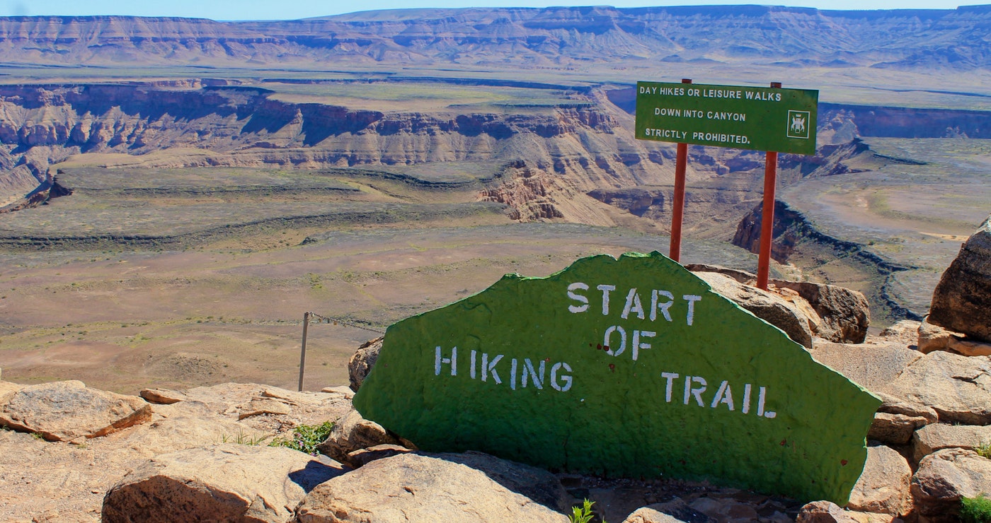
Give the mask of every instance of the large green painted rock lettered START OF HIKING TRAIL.
POLYGON ((654 252, 395 323, 354 404, 425 451, 843 504, 880 400, 654 252))

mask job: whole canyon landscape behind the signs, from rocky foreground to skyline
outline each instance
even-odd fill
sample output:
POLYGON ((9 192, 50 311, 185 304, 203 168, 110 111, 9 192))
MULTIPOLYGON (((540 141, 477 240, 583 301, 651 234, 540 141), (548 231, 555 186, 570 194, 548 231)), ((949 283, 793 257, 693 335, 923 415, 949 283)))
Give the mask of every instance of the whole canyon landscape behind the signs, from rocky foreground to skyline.
MULTIPOLYGON (((987 6, 0 19, 0 366, 72 377, 52 362, 89 354, 117 377, 75 371, 121 391, 288 387, 272 351, 303 310, 381 330, 506 270, 664 252, 675 145, 635 138, 632 85, 681 77, 820 89, 817 154, 779 158, 772 272, 864 292, 876 325, 921 317, 991 205, 989 23, 987 6)), ((689 148, 686 261, 754 270, 763 167, 689 148)), ((367 335, 348 329, 327 361, 367 335)))

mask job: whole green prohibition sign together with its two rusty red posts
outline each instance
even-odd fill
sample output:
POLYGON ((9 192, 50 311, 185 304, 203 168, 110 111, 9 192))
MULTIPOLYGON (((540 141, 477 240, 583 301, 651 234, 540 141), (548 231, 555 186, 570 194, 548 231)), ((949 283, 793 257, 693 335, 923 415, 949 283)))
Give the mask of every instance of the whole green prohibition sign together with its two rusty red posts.
POLYGON ((767 289, 778 153, 815 154, 819 91, 771 87, 637 82, 636 137, 678 144, 669 257, 681 259, 688 144, 763 150, 757 287, 767 289))

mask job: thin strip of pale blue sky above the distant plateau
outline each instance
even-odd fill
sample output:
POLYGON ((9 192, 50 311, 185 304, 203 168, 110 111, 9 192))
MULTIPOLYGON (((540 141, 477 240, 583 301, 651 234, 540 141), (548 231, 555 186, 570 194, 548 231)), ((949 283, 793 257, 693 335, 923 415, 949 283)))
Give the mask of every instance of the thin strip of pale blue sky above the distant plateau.
POLYGON ((819 9, 955 9, 959 5, 985 4, 991 0, 364 0, 361 2, 319 0, 0 0, 0 16, 18 15, 134 15, 210 18, 213 20, 292 20, 337 15, 354 11, 411 7, 546 7, 549 5, 613 5, 646 7, 667 5, 767 4, 816 7, 819 9))

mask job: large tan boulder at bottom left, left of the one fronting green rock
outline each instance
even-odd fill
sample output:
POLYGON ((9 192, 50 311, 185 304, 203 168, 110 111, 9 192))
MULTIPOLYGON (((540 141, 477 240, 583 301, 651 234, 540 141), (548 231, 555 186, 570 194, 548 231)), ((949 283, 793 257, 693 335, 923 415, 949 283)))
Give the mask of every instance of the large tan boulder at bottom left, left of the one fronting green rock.
POLYGON ((104 523, 254 521, 283 523, 317 484, 343 474, 282 447, 226 444, 152 458, 103 497, 104 523))

